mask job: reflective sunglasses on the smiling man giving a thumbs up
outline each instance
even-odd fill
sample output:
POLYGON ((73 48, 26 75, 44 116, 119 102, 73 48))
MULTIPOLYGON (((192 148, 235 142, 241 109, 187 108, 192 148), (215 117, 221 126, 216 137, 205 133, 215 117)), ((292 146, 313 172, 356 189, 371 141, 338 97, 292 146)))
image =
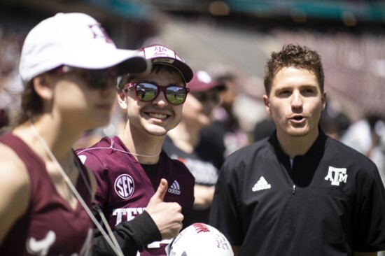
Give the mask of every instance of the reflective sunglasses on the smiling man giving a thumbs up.
POLYGON ((174 105, 183 104, 188 92, 190 92, 190 88, 179 85, 160 86, 153 83, 128 83, 125 89, 129 90, 132 87, 135 88, 135 94, 139 101, 153 101, 160 92, 163 92, 167 101, 174 105))

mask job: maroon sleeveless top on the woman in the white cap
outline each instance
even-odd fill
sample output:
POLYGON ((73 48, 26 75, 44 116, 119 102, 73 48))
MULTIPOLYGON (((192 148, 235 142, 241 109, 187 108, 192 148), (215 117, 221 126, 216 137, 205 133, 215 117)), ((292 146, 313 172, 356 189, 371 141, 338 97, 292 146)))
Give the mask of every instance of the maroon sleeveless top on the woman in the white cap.
MULTIPOLYGON (((93 225, 83 206, 78 203, 73 210, 57 193, 45 163, 24 141, 13 134, 5 134, 0 142, 12 148, 22 159, 31 183, 27 212, 6 235, 0 246, 0 255, 90 255, 93 225)), ((89 183, 87 171, 80 161, 79 164, 89 183)), ((76 189, 90 206, 91 195, 80 174, 76 189)))

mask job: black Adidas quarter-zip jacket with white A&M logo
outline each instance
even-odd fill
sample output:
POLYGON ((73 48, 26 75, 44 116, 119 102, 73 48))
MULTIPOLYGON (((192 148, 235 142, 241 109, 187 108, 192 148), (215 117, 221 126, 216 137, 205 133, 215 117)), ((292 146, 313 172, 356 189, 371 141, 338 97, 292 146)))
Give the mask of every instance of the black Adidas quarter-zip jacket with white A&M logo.
POLYGON ((321 128, 291 167, 274 132, 225 160, 209 224, 239 256, 385 250, 384 185, 370 159, 321 128))

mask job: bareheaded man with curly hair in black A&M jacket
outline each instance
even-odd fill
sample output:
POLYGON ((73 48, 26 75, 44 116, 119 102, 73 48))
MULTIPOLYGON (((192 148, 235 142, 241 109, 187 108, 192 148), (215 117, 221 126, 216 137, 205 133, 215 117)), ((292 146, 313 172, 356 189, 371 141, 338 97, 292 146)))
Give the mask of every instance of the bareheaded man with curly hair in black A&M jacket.
POLYGON ((374 256, 385 249, 377 166, 327 136, 318 52, 283 45, 265 68, 269 138, 234 152, 219 172, 209 225, 236 255, 374 256))

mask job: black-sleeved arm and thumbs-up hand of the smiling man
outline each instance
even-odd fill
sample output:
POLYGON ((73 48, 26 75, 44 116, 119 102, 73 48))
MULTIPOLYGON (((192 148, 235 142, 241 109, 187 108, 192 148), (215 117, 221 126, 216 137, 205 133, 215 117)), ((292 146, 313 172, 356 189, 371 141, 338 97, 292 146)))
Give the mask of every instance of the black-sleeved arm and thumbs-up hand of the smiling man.
MULTIPOLYGON (((125 256, 137 255, 144 246, 153 241, 172 239, 179 234, 183 215, 177 203, 165 203, 167 180, 162 179, 158 190, 148 202, 146 211, 128 222, 120 222, 113 230, 125 256)), ((94 238, 93 255, 114 255, 103 236, 97 232, 94 238)))

